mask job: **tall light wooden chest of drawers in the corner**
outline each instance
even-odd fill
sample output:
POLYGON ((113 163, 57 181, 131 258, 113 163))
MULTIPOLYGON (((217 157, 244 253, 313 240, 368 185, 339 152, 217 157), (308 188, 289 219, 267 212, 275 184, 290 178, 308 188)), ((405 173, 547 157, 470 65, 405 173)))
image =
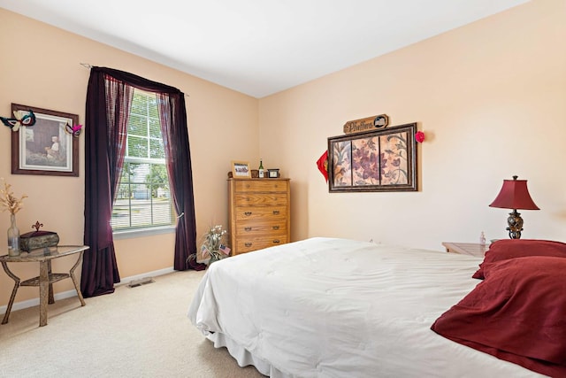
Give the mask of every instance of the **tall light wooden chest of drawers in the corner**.
POLYGON ((289 243, 289 179, 228 179, 228 222, 233 255, 289 243))

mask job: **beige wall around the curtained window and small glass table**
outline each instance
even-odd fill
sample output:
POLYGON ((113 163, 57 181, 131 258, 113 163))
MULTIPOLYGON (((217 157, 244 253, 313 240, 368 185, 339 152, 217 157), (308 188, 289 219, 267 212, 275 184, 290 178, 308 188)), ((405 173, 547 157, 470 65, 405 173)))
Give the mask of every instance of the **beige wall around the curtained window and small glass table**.
MULTIPOLYGON (((230 160, 256 161, 258 157, 256 98, 3 9, 0 46, 5 54, 0 64, 0 115, 4 117, 10 115, 11 103, 16 103, 79 114, 83 123, 89 72, 80 62, 135 73, 185 92, 198 234, 202 235, 212 223, 226 225, 226 173, 230 160)), ((25 208, 17 215, 21 233, 31 231, 35 220, 40 220, 45 229, 57 231, 60 243, 81 244, 84 135, 80 136, 80 177, 12 175, 11 130, 0 127, 0 177, 11 183, 16 194, 28 196, 25 208)), ((8 213, 0 213, 4 239, 9 218, 8 213)), ((118 240, 115 245, 121 277, 172 267, 172 234, 118 240)), ((72 263, 71 258, 56 260, 54 271, 67 269, 72 263)), ((11 266, 24 279, 39 271, 35 264, 11 266)), ((1 273, 0 306, 7 304, 12 285, 11 279, 1 273)), ((70 280, 55 284, 56 292, 72 287, 70 280)), ((38 297, 36 288, 21 288, 16 302, 34 297, 38 297)))

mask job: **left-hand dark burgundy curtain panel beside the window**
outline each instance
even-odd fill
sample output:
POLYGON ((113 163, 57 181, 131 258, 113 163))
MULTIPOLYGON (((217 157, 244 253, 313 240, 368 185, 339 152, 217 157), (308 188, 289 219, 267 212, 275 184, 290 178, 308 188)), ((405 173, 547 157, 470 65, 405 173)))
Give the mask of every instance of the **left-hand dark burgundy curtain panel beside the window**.
POLYGON ((90 70, 85 120, 85 232, 90 246, 82 261, 84 297, 114 292, 120 281, 112 228, 112 203, 126 150, 133 88, 98 67, 90 70))

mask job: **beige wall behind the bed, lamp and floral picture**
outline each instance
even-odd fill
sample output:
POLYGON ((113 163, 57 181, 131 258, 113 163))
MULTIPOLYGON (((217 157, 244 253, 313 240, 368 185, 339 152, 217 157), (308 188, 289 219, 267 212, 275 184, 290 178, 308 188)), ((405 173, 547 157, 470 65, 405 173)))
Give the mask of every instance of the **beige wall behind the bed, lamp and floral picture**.
POLYGON ((488 207, 517 174, 540 211, 524 238, 566 241, 566 2, 534 0, 260 100, 260 155, 292 179, 292 235, 441 250, 507 237, 488 207), (417 122, 419 191, 333 193, 317 171, 327 137, 386 113, 417 122))

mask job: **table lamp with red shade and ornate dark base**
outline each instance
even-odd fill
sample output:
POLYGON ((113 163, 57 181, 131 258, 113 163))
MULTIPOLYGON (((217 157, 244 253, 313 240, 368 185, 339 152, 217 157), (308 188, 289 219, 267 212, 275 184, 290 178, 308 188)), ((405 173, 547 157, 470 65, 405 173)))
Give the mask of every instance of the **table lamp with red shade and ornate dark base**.
POLYGON ((509 212, 507 219, 509 225, 507 230, 511 239, 520 239, 521 231, 523 231, 523 218, 516 210, 540 210, 532 201, 529 189, 527 189, 527 181, 517 180, 516 178, 517 176, 513 176, 513 180, 503 180, 499 194, 489 205, 501 209, 513 209, 513 212, 509 212))

